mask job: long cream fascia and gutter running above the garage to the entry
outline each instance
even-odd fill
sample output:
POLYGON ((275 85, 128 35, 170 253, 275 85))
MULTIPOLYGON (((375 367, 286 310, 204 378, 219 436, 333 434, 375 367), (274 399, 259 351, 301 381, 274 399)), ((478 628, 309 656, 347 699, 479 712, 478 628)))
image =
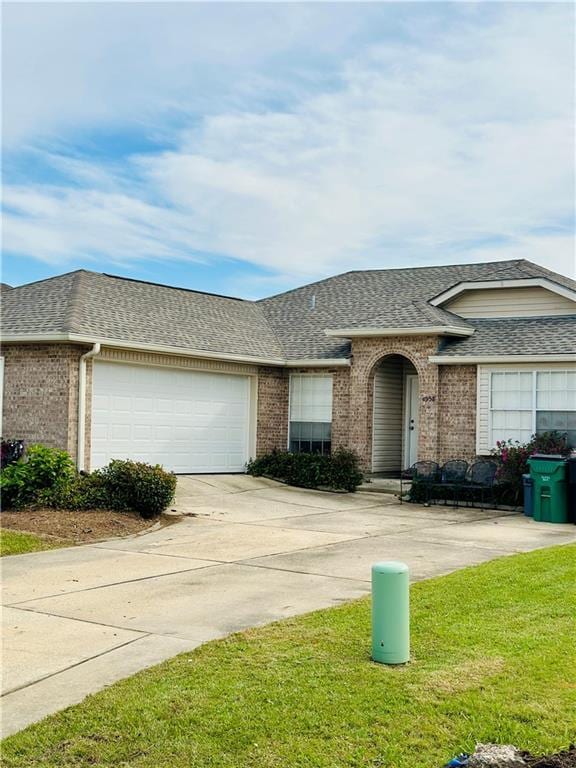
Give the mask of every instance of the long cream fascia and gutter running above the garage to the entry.
POLYGON ((250 363, 251 365, 270 365, 281 368, 293 367, 334 367, 350 365, 346 358, 303 358, 302 360, 285 360, 284 358, 253 357, 250 355, 231 355, 225 352, 210 352, 204 349, 183 349, 172 347, 168 344, 143 344, 137 341, 119 341, 104 337, 86 336, 78 333, 22 333, 4 334, 1 337, 5 344, 47 344, 50 342, 68 342, 69 344, 96 344, 102 347, 114 347, 117 349, 133 349, 142 352, 156 352, 166 355, 181 355, 182 357, 197 357, 208 360, 225 360, 235 363, 250 363))

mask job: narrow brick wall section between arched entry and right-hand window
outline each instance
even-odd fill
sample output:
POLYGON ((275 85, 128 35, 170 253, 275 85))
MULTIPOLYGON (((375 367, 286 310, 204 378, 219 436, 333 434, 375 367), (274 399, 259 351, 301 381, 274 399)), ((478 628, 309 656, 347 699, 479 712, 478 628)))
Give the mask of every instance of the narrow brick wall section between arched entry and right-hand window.
POLYGON ((438 461, 476 456, 475 365, 442 365, 439 379, 438 461))

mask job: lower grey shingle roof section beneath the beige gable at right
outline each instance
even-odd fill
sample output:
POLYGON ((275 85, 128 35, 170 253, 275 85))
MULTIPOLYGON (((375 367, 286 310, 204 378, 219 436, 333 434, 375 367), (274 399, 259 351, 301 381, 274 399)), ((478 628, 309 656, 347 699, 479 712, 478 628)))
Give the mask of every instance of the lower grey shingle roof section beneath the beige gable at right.
POLYGON ((473 336, 448 339, 440 357, 463 355, 574 355, 576 314, 566 317, 500 317, 469 320, 473 336))

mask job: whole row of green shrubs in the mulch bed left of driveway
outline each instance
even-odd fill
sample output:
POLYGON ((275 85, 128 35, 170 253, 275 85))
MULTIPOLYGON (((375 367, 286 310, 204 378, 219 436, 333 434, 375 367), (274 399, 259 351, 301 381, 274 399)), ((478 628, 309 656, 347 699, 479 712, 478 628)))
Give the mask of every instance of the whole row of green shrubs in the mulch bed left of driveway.
POLYGON ((160 465, 120 460, 78 473, 66 451, 33 445, 2 470, 0 487, 5 508, 114 509, 148 518, 173 501, 176 476, 160 465))

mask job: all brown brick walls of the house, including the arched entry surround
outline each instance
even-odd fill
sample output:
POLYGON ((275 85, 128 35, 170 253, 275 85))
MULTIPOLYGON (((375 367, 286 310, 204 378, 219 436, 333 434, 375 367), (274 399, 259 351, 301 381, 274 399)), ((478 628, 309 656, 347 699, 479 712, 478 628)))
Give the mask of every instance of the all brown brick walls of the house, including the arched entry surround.
MULTIPOLYGON (((3 433, 27 444, 64 448, 76 457, 78 366, 87 347, 66 344, 7 345, 4 367, 3 433)), ((432 336, 357 339, 352 366, 334 369, 258 369, 258 456, 285 450, 288 442, 290 373, 333 377, 332 445, 351 447, 371 469, 374 372, 388 355, 412 362, 420 383, 418 458, 473 459, 476 442, 476 366, 436 366, 432 336), (425 398, 425 399, 423 399, 425 398)), ((87 362, 86 459, 90 456, 92 363, 87 362)))

